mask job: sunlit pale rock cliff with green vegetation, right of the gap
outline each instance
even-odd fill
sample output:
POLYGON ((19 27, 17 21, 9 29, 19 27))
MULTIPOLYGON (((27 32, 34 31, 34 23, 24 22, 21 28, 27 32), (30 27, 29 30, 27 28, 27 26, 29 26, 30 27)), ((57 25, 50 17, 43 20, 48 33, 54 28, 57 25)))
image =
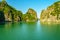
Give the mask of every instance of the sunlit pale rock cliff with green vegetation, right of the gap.
POLYGON ((47 9, 42 10, 40 21, 60 23, 60 1, 55 2, 47 9))

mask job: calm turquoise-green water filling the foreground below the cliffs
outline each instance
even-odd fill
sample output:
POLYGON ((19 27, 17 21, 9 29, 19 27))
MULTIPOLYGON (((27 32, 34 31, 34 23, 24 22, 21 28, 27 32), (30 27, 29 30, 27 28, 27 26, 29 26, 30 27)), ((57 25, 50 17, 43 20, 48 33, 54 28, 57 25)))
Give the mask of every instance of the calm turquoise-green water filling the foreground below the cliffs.
POLYGON ((17 22, 0 24, 0 40, 60 40, 60 24, 17 22))

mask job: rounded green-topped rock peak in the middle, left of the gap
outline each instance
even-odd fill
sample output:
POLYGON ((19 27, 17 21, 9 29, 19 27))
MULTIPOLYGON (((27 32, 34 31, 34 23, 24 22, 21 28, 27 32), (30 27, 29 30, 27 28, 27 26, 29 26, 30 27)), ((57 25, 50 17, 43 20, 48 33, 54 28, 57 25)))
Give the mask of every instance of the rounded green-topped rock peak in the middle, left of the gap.
POLYGON ((26 22, 35 22, 37 21, 37 13, 35 10, 29 8, 26 14, 23 16, 23 20, 26 22))

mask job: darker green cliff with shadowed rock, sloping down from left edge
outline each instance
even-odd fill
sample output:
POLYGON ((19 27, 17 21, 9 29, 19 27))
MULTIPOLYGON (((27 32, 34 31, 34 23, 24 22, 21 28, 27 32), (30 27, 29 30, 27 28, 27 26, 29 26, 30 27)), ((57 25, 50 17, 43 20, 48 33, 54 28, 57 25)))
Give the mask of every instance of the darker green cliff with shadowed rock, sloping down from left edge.
POLYGON ((0 2, 0 22, 22 21, 22 12, 7 4, 6 1, 0 2))

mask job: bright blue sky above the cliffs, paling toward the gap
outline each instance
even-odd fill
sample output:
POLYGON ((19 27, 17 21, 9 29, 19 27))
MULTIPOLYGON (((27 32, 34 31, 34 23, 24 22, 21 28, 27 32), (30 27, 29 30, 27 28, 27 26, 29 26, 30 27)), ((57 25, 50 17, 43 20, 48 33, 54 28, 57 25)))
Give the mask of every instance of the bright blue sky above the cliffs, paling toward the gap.
POLYGON ((34 9, 37 12, 38 18, 40 17, 41 11, 46 9, 58 0, 6 0, 9 5, 17 10, 22 11, 24 14, 29 8, 34 9))

